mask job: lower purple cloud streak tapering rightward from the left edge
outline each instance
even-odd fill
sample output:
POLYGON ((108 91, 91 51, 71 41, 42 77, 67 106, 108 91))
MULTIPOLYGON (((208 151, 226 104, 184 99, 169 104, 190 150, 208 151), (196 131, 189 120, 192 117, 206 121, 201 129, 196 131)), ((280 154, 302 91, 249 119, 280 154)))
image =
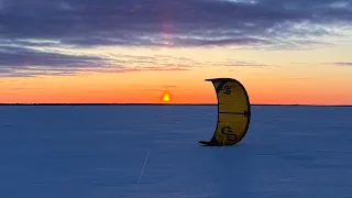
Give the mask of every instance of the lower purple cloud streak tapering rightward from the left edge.
POLYGON ((68 76, 78 73, 188 70, 191 59, 172 56, 91 56, 0 45, 0 77, 68 76), (154 66, 151 66, 154 65, 154 66))

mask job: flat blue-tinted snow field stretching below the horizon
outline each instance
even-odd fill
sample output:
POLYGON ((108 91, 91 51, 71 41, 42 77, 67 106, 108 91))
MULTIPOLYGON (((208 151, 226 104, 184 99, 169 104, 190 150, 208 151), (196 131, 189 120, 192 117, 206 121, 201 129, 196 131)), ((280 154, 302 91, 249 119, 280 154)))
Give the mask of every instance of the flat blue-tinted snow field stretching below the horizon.
POLYGON ((0 107, 0 197, 352 197, 352 108, 252 110, 205 147, 216 106, 0 107))

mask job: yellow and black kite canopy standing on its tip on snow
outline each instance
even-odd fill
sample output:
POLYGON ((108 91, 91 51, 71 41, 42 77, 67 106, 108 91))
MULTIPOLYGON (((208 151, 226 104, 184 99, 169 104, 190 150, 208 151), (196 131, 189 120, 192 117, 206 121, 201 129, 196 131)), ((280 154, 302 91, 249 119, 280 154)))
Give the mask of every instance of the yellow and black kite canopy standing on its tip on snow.
POLYGON ((243 85, 232 78, 212 78, 211 81, 218 98, 218 124, 205 145, 234 145, 244 136, 251 121, 251 103, 243 85))

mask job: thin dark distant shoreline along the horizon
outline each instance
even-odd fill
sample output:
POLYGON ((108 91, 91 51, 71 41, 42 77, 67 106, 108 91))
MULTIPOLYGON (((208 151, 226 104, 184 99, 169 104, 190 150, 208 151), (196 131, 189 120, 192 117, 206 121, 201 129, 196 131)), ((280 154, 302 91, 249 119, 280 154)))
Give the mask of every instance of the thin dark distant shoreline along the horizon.
MULTIPOLYGON (((0 103, 0 106, 217 106, 218 103, 0 103)), ((352 105, 275 105, 253 103, 251 106, 304 106, 304 107, 352 107, 352 105)))

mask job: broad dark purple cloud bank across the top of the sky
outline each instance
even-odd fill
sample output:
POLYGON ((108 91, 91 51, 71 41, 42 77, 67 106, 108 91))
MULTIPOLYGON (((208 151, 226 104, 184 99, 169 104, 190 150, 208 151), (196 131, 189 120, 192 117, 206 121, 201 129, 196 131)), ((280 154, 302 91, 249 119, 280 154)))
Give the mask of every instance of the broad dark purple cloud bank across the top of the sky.
POLYGON ((4 0, 0 33, 76 46, 273 45, 333 34, 332 24, 351 24, 351 8, 336 0, 4 0))

